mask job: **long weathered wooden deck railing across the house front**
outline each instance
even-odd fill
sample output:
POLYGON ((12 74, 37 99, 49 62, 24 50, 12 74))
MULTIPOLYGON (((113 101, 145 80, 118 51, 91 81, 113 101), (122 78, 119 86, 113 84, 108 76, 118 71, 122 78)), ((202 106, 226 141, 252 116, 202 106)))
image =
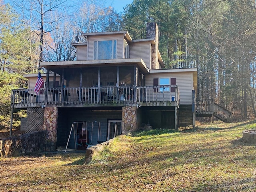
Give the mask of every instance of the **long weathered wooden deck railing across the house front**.
POLYGON ((132 105, 152 102, 179 103, 178 86, 106 86, 12 90, 12 107, 132 105))

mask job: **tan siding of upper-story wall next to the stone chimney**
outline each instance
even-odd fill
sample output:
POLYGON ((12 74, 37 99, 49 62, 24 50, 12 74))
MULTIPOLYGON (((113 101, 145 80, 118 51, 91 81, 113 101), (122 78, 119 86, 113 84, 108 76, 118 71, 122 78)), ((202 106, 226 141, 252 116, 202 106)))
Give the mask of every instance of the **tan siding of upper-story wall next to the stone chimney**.
POLYGON ((136 42, 130 47, 130 58, 142 58, 146 66, 151 69, 150 42, 136 42))

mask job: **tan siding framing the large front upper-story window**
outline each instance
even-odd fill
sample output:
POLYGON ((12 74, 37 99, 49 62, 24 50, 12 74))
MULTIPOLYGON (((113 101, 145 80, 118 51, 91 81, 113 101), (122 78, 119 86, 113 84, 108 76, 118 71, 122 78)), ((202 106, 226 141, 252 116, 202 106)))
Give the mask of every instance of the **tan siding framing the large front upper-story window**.
POLYGON ((94 41, 105 41, 105 40, 116 40, 117 43, 117 59, 124 58, 124 37, 123 35, 107 35, 107 36, 92 36, 88 37, 88 60, 93 60, 94 58, 94 41))

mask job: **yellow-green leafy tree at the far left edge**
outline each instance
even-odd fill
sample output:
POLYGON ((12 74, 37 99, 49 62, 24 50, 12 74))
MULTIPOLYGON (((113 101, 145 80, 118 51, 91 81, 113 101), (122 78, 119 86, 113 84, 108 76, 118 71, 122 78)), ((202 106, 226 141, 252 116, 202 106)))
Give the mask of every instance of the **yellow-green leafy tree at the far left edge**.
MULTIPOLYGON (((0 2, 0 129, 10 125, 12 89, 24 85, 22 73, 31 72, 28 52, 31 51, 29 30, 22 28, 10 6, 0 2), (6 18, 6 19, 2 19, 6 18)), ((14 113, 14 127, 22 115, 14 113)))

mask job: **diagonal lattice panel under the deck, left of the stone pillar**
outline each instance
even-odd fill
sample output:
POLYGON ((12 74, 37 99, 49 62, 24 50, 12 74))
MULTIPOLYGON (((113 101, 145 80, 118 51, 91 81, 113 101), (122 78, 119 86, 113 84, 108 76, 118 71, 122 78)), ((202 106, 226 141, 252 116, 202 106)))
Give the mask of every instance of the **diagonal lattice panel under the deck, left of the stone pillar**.
POLYGON ((26 133, 43 130, 44 108, 34 107, 27 109, 26 133))

